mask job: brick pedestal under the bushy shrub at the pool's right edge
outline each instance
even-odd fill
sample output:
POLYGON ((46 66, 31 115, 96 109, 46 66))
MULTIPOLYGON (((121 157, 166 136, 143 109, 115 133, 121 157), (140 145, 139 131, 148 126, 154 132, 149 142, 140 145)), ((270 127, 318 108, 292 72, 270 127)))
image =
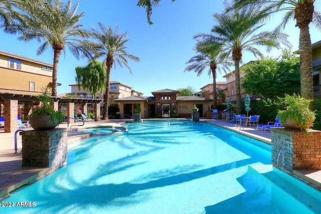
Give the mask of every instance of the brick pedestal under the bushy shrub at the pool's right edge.
POLYGON ((288 173, 293 169, 321 169, 321 131, 271 129, 272 163, 288 173))

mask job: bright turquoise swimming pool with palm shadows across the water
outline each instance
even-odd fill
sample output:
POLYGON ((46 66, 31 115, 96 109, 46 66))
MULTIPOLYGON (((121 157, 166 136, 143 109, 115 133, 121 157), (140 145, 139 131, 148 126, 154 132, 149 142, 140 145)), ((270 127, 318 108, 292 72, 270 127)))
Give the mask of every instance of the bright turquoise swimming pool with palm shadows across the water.
POLYGON ((271 167, 271 148, 207 124, 129 123, 89 138, 67 167, 18 190, 1 213, 319 213, 321 193, 271 167))

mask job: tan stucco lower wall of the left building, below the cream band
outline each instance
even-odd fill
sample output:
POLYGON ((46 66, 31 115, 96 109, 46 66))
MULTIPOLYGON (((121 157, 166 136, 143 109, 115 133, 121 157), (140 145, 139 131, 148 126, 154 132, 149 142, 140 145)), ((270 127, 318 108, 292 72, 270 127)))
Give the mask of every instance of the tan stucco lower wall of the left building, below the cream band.
POLYGON ((19 70, 0 68, 0 92, 38 95, 41 88, 52 82, 51 76, 43 76, 19 70), (35 82, 35 91, 30 91, 30 82, 35 82))

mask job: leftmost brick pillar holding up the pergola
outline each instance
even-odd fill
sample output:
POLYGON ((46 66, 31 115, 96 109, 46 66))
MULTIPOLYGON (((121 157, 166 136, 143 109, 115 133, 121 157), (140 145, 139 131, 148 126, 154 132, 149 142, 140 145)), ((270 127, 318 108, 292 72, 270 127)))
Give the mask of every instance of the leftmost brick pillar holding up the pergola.
POLYGON ((5 100, 5 132, 18 129, 18 100, 5 100))

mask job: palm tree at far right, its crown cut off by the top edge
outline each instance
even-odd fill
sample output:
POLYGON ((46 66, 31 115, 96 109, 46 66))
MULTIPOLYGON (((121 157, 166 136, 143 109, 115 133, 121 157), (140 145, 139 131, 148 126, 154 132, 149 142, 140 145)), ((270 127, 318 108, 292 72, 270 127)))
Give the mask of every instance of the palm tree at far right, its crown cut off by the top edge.
POLYGON ((309 24, 312 22, 321 30, 321 14, 314 11, 315 0, 240 0, 235 1, 233 9, 244 7, 264 7, 270 14, 285 11, 281 24, 284 28, 289 20, 295 19, 295 27, 300 29, 299 54, 301 69, 301 97, 313 99, 312 47, 309 24))

